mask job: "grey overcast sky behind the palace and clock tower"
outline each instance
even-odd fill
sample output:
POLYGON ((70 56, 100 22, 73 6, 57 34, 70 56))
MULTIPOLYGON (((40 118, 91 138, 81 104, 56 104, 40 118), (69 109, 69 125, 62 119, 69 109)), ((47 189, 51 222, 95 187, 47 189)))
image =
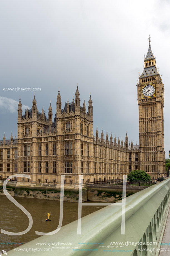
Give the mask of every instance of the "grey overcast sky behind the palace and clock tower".
POLYGON ((149 34, 165 88, 164 139, 169 157, 170 1, 1 0, 0 1, 0 138, 17 137, 19 96, 53 116, 58 87, 62 108, 75 98, 93 101, 93 133, 127 135, 139 144, 137 79, 142 73, 149 34))

